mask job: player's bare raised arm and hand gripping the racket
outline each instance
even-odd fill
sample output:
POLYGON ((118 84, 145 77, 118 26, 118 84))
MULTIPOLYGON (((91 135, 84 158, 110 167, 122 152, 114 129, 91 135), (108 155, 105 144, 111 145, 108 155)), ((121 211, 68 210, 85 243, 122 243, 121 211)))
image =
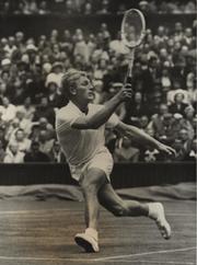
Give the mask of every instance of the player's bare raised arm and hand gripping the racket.
POLYGON ((74 129, 97 129, 112 116, 116 107, 132 95, 131 85, 126 84, 114 97, 107 101, 103 107, 91 116, 77 118, 71 127, 74 129))

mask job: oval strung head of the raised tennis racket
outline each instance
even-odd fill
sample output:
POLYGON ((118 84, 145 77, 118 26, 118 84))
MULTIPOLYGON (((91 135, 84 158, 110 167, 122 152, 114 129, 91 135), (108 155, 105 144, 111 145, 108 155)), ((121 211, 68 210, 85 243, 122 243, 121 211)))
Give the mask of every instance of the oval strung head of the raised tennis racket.
POLYGON ((146 20, 138 9, 129 9, 121 21, 121 39, 128 48, 139 46, 146 34, 146 20))

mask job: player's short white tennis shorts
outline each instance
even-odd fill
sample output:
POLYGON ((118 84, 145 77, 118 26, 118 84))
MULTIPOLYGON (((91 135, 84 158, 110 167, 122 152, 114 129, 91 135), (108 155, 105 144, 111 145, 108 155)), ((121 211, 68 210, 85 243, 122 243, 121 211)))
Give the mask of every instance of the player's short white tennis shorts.
POLYGON ((99 150, 92 159, 90 159, 88 162, 80 164, 80 165, 71 165, 70 172, 72 178, 76 181, 80 181, 82 175, 85 175, 85 172, 88 172, 92 168, 100 169, 104 171, 107 180, 111 182, 111 173, 113 170, 114 161, 111 152, 107 150, 107 148, 103 148, 99 150))

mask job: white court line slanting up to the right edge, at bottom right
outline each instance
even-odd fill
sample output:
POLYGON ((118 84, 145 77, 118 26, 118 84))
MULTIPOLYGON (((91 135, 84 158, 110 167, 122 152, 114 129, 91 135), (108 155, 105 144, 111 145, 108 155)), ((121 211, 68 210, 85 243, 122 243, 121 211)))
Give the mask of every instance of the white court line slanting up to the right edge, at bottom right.
POLYGON ((136 253, 136 254, 128 254, 128 255, 118 255, 118 256, 106 256, 106 257, 100 257, 95 261, 107 261, 107 260, 119 260, 119 258, 127 258, 127 257, 135 257, 135 256, 146 256, 146 255, 153 255, 153 254, 165 254, 165 253, 175 253, 175 252, 184 252, 184 251, 192 251, 197 250, 196 246, 193 247, 185 247, 185 249, 176 249, 176 250, 165 250, 165 251, 152 251, 152 252, 142 252, 142 253, 136 253))

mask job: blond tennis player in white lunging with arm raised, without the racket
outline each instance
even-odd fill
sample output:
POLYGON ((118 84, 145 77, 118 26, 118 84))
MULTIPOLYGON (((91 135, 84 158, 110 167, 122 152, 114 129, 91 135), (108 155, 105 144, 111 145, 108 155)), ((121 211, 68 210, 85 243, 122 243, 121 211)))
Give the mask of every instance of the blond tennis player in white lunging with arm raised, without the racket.
POLYGON ((104 105, 91 104, 94 87, 85 72, 68 70, 62 77, 62 93, 69 103, 57 112, 56 131, 70 166, 71 175, 83 191, 85 224, 83 233, 74 238, 85 252, 99 252, 100 205, 117 217, 149 217, 155 221, 162 237, 170 239, 171 227, 160 203, 140 204, 123 200, 113 189, 111 172, 113 158, 105 147, 105 126, 114 128, 126 137, 135 137, 167 154, 174 150, 137 127, 118 119, 114 111, 132 95, 131 85, 125 85, 104 105))

